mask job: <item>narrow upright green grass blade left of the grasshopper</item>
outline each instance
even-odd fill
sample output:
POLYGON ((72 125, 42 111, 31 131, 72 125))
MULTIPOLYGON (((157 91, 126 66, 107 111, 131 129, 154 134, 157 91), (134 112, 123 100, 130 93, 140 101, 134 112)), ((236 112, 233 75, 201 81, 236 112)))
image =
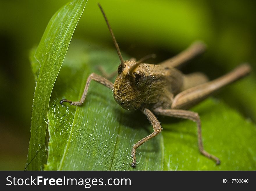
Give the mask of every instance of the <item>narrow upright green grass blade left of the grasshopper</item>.
POLYGON ((33 71, 39 68, 39 73, 33 100, 28 170, 42 170, 46 163, 45 133, 49 100, 86 2, 71 1, 53 15, 31 60, 33 71))

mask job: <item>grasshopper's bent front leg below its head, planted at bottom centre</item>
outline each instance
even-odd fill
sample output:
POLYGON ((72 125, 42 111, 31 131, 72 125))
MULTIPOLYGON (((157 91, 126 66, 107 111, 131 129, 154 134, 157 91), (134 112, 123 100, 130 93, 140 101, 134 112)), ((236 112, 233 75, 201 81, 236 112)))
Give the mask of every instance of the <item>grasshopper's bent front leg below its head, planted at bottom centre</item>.
POLYGON ((144 137, 143 139, 136 142, 131 149, 131 157, 132 157, 132 163, 130 163, 131 167, 136 167, 136 149, 141 146, 144 142, 147 140, 150 140, 151 138, 157 136, 161 131, 161 125, 159 121, 157 120, 156 116, 147 108, 143 108, 142 112, 147 116, 147 118, 150 120, 152 127, 154 129, 154 132, 150 135, 144 137))

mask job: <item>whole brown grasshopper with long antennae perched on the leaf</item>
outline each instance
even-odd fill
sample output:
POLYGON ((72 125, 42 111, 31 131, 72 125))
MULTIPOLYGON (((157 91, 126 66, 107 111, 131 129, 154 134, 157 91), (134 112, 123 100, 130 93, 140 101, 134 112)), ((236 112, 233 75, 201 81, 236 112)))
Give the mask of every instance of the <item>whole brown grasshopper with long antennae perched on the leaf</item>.
POLYGON ((203 148, 201 122, 198 113, 186 109, 206 99, 219 88, 247 75, 251 70, 250 66, 248 64, 240 65, 232 72, 213 81, 208 81, 207 77, 202 73, 182 74, 175 67, 202 53, 205 50, 205 45, 202 42, 195 42, 177 56, 158 65, 143 63, 149 56, 138 62, 123 60, 106 15, 100 5, 99 8, 107 23, 121 61, 117 70, 118 76, 113 84, 108 79, 92 73, 86 81, 80 101, 62 99, 60 103, 68 102, 70 105, 81 106, 86 99, 90 82, 94 80, 113 90, 114 99, 122 108, 126 110, 141 110, 150 120, 154 132, 132 146, 131 167, 136 167, 136 149, 162 131, 155 114, 184 118, 196 122, 200 152, 214 160, 217 165, 220 164, 219 158, 208 153, 203 148))

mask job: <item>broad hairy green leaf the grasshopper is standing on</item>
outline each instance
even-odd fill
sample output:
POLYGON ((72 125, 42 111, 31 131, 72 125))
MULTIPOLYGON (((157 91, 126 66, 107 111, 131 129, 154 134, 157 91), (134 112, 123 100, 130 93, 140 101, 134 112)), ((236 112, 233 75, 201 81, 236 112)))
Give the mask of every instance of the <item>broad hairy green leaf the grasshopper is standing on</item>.
POLYGON ((256 169, 255 125, 213 99, 192 110, 201 117, 205 150, 219 157, 221 165, 200 154, 195 123, 158 116, 163 131, 137 149, 137 168, 130 167, 132 145, 153 131, 141 112, 122 109, 111 90, 94 81, 83 106, 59 104, 63 98, 79 100, 88 75, 100 74, 98 65, 113 72, 119 62, 113 49, 70 44, 50 100, 46 170, 256 169))

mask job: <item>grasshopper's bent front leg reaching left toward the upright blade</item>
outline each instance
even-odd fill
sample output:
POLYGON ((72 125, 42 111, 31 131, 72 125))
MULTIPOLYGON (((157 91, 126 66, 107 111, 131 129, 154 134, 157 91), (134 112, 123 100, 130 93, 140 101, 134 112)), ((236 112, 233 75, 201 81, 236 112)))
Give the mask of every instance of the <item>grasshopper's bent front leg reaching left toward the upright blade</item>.
POLYGON ((81 99, 79 101, 71 101, 71 100, 68 100, 68 99, 62 99, 60 101, 60 104, 62 104, 63 102, 68 102, 68 103, 70 103, 70 105, 81 106, 83 104, 83 102, 85 101, 86 94, 88 92, 88 88, 89 88, 90 82, 92 80, 94 80, 94 81, 96 81, 98 83, 101 83, 102 85, 106 86, 109 89, 113 88, 113 83, 111 81, 109 81, 108 79, 106 79, 106 78, 104 78, 102 76, 99 76, 98 74, 92 73, 87 78, 87 81, 86 81, 86 84, 85 84, 85 87, 84 87, 84 90, 83 90, 82 97, 81 97, 81 99))

